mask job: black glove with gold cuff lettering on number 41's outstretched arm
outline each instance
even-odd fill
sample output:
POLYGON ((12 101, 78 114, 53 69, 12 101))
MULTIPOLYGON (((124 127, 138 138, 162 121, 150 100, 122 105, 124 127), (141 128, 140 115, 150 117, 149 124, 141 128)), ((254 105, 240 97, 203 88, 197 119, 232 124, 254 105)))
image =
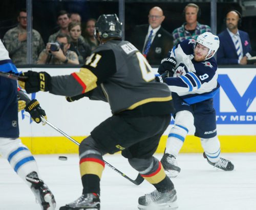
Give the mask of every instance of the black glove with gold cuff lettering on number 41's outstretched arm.
POLYGON ((25 82, 18 81, 18 84, 21 88, 25 89, 27 93, 51 90, 51 76, 47 72, 28 71, 22 73, 22 75, 27 76, 28 79, 25 82))

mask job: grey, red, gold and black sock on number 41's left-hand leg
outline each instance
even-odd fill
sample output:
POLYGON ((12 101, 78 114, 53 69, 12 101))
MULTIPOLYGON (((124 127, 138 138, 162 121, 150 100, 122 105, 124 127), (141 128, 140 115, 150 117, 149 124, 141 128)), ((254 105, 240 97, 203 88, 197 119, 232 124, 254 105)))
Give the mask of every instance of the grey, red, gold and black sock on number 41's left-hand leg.
POLYGON ((100 178, 105 167, 102 156, 99 154, 88 154, 80 159, 80 174, 83 185, 83 194, 100 194, 100 178))

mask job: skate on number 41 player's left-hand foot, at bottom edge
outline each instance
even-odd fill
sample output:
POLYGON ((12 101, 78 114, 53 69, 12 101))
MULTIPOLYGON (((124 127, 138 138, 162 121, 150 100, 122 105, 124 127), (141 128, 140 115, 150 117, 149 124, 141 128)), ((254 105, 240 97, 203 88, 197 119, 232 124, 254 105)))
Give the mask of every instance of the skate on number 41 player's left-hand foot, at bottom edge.
POLYGON ((59 210, 99 210, 100 209, 100 199, 99 195, 96 193, 87 193, 79 197, 72 203, 66 206, 61 206, 59 210))

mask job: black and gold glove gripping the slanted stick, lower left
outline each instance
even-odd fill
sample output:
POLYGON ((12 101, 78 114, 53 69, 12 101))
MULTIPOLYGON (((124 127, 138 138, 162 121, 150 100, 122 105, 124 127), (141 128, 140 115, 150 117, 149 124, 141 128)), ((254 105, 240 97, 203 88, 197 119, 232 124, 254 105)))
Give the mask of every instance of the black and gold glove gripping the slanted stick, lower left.
MULTIPOLYGON (((40 107, 40 104, 36 99, 31 100, 27 104, 25 110, 30 114, 30 116, 36 123, 40 123, 42 121, 40 116, 43 116, 47 120, 45 110, 43 110, 40 107)), ((43 124, 43 125, 45 125, 45 124, 43 124)))

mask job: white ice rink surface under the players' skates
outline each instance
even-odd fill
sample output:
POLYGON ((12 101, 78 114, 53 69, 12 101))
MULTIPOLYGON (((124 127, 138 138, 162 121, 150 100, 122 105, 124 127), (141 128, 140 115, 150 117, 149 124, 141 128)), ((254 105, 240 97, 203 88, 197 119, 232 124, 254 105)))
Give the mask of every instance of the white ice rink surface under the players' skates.
MULTIPOLYGON (((78 155, 67 161, 54 155, 35 155, 40 177, 53 192, 57 208, 77 199, 82 192, 78 155)), ((161 154, 155 155, 161 159, 161 154)), ((172 179, 177 190, 179 210, 252 210, 256 209, 256 153, 223 153, 223 158, 234 164, 234 171, 222 171, 210 166, 202 154, 178 156, 181 173, 172 179)), ((105 155, 104 160, 135 179, 137 172, 120 154, 105 155)), ((144 181, 135 186, 105 166, 101 179, 101 210, 137 209, 138 197, 154 191, 144 181)), ((0 209, 36 210, 33 193, 0 158, 0 209)))

